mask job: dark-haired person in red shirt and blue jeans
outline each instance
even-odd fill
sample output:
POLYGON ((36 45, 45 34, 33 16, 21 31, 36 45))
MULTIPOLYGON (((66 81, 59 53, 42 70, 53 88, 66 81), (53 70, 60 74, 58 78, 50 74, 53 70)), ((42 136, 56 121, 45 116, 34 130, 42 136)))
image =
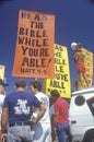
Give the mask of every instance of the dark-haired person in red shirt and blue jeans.
POLYGON ((66 134, 69 129, 68 120, 68 102, 60 97, 60 94, 57 90, 52 90, 50 95, 55 102, 55 125, 57 129, 59 142, 67 142, 66 134))

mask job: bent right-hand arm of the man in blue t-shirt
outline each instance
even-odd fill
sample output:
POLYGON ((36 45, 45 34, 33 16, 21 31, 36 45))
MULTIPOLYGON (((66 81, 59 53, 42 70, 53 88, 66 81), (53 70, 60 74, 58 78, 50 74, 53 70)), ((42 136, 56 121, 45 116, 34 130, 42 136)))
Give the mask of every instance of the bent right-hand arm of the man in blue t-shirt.
POLYGON ((39 121, 39 119, 44 116, 45 111, 46 111, 45 106, 43 104, 40 104, 40 106, 39 106, 39 113, 38 113, 37 117, 35 119, 33 119, 32 121, 34 123, 37 123, 39 121))

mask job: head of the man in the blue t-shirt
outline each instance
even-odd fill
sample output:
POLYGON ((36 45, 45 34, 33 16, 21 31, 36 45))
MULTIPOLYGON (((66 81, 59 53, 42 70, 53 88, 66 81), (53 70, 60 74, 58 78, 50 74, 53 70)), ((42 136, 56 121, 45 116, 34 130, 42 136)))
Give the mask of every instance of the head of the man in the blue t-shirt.
POLYGON ((26 82, 24 81, 24 79, 19 79, 15 82, 14 87, 16 91, 25 91, 26 90, 26 82))

